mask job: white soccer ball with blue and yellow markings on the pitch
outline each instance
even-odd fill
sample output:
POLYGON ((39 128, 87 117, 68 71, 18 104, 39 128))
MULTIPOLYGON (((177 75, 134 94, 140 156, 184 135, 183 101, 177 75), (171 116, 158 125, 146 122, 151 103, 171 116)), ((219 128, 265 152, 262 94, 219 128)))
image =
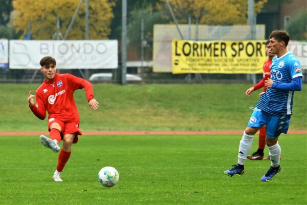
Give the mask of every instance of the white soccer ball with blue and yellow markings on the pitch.
POLYGON ((98 173, 98 180, 104 187, 113 187, 119 180, 119 173, 113 167, 104 167, 98 173))

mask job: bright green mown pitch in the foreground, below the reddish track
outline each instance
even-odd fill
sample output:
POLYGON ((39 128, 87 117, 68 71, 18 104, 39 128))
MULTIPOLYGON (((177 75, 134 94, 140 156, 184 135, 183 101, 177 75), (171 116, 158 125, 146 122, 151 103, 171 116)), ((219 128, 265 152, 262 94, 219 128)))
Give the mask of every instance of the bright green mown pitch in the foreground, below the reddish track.
MULTIPOLYGON (((236 163, 240 136, 82 136, 62 172, 57 154, 38 136, 2 136, 0 204, 306 204, 305 135, 283 135, 281 172, 261 176, 270 161, 246 162, 243 176, 223 171, 236 163), (105 188, 98 171, 113 166, 120 180, 105 188)), ((253 150, 256 149, 257 138, 253 150)), ((268 154, 268 151, 265 151, 268 154)))

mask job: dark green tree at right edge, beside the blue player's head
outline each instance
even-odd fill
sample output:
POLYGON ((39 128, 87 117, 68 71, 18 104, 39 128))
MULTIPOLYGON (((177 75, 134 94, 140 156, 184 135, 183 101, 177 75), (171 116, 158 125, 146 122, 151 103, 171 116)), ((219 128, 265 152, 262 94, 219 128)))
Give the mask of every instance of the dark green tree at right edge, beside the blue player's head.
POLYGON ((290 19, 287 27, 292 40, 307 40, 307 9, 301 9, 290 19))

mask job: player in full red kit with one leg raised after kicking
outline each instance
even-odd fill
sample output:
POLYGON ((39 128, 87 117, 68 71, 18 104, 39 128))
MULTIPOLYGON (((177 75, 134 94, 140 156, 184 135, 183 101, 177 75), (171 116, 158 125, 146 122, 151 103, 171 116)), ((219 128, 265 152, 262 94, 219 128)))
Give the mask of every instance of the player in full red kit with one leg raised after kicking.
POLYGON ((39 119, 46 118, 48 112, 48 130, 50 138, 41 135, 42 145, 54 152, 59 152, 58 164, 52 179, 63 181, 61 172, 71 155, 71 146, 78 141, 78 135, 82 135, 80 118, 74 100, 74 91, 85 89, 86 98, 92 110, 98 109, 98 102, 93 95, 93 86, 89 81, 71 74, 57 74, 56 61, 53 57, 46 56, 40 60, 40 71, 45 80, 32 95, 28 95, 29 107, 39 119), (36 104, 34 104, 36 97, 36 104), (62 149, 59 144, 63 140, 62 149))

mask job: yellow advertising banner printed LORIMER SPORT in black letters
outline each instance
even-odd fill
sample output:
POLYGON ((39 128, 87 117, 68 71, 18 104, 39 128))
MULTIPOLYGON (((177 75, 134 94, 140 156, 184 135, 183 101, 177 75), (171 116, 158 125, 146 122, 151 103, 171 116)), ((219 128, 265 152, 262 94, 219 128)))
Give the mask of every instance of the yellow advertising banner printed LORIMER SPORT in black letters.
POLYGON ((172 73, 262 73, 266 40, 172 40, 172 73))

